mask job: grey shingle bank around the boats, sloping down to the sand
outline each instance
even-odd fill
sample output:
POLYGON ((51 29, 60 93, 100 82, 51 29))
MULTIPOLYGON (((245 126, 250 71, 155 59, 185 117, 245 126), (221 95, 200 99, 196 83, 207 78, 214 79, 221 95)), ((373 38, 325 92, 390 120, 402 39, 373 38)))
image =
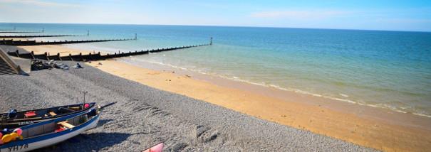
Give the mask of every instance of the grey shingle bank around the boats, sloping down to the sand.
POLYGON ((142 151, 160 142, 164 151, 375 151, 81 65, 0 75, 0 112, 83 102, 83 91, 86 102, 118 102, 104 110, 97 128, 39 151, 142 151))

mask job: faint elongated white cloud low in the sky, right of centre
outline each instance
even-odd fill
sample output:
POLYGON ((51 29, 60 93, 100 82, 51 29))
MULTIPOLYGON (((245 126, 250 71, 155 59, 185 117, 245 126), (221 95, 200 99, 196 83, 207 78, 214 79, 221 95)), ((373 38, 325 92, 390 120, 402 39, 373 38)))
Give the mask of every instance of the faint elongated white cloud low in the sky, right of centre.
POLYGON ((344 16, 348 11, 260 11, 251 13, 254 18, 321 19, 344 16))

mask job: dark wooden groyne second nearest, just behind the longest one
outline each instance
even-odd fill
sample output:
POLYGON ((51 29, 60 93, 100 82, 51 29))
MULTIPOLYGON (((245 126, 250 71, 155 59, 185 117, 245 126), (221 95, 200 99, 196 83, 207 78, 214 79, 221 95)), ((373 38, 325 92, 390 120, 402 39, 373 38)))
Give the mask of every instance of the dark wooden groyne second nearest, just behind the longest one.
POLYGON ((106 40, 53 40, 53 41, 39 41, 36 40, 0 40, 0 45, 58 45, 58 44, 73 44, 73 43, 95 43, 95 42, 108 42, 119 40, 136 40, 136 38, 123 38, 123 39, 106 39, 106 40))

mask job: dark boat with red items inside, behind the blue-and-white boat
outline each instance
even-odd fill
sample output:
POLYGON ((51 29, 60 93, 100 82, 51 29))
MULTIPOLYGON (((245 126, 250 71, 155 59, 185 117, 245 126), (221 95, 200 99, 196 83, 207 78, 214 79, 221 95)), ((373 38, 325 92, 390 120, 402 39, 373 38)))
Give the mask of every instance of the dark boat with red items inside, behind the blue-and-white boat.
POLYGON ((32 109, 17 112, 11 109, 8 113, 0 114, 0 129, 14 129, 28 124, 56 119, 68 114, 82 113, 86 109, 95 107, 95 102, 83 104, 71 104, 46 109, 32 109))

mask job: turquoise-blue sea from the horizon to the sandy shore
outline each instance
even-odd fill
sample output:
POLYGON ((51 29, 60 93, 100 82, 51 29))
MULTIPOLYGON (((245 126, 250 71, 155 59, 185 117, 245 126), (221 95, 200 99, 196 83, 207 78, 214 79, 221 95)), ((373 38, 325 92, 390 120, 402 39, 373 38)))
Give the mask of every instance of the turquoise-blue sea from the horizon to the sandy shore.
POLYGON ((43 34, 85 35, 90 30, 90 36, 43 40, 133 38, 137 33, 138 40, 71 45, 107 52, 195 45, 214 37, 211 46, 126 60, 431 116, 431 33, 0 23, 0 28, 14 26, 26 31, 45 28, 43 34))

